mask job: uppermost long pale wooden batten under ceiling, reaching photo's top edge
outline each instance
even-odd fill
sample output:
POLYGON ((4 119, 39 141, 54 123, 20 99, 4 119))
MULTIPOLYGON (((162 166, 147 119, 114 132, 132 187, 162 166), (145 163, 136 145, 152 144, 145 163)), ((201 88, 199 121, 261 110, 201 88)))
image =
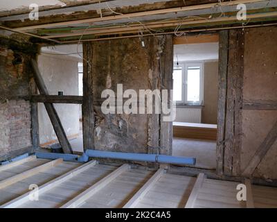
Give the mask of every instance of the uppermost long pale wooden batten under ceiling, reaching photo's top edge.
POLYGON ((172 13, 172 12, 185 12, 190 10, 199 10, 199 9, 205 9, 205 8, 214 8, 218 6, 236 6, 239 3, 253 3, 255 1, 261 1, 261 0, 237 0, 237 1, 226 1, 221 3, 208 3, 208 4, 202 4, 197 6, 186 6, 186 7, 179 7, 179 8, 166 8, 166 9, 160 9, 160 10, 150 10, 146 12, 134 12, 134 13, 128 13, 126 15, 111 15, 106 17, 97 17, 97 18, 91 18, 91 19, 78 19, 74 21, 69 22, 55 22, 51 24, 40 24, 35 26, 25 26, 21 28, 14 28, 15 31, 27 31, 31 29, 37 29, 37 28, 49 28, 49 27, 56 27, 56 26, 68 26, 73 24, 84 24, 84 23, 92 23, 92 22, 104 22, 104 21, 111 21, 116 19, 129 19, 132 17, 140 17, 145 15, 160 15, 165 13, 172 13))

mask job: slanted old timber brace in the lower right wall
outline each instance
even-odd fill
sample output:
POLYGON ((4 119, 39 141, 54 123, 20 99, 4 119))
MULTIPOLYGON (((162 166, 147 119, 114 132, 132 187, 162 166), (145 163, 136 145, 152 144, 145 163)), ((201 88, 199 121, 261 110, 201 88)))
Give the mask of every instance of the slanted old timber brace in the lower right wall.
POLYGON ((264 141, 262 142, 262 144, 260 144, 257 151, 249 161, 249 164, 244 169, 242 173, 243 176, 251 176, 253 174, 256 167, 258 167, 258 164, 260 164, 260 162, 262 161, 262 158, 265 157, 265 155, 267 154, 267 151, 269 151, 269 148, 271 148, 274 142, 276 142, 276 139, 277 139, 277 121, 274 123, 274 126, 267 134, 267 137, 265 137, 264 141))

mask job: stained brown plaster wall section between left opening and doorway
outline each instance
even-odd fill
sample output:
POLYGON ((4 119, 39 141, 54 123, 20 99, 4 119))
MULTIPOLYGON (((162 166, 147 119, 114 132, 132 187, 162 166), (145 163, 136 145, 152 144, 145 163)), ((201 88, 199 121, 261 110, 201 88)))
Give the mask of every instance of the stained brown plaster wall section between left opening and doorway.
POLYGON ((94 148, 135 153, 157 152, 159 115, 103 114, 101 93, 123 84, 125 89, 160 89, 159 38, 93 42, 93 101, 96 114, 94 148))

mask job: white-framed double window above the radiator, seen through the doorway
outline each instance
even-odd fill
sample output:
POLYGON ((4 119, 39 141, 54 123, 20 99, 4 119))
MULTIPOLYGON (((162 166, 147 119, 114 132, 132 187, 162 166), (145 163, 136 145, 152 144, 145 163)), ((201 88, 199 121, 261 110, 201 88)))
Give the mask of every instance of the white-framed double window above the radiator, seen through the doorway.
POLYGON ((173 100, 184 105, 203 103, 202 62, 179 62, 173 69, 173 100))

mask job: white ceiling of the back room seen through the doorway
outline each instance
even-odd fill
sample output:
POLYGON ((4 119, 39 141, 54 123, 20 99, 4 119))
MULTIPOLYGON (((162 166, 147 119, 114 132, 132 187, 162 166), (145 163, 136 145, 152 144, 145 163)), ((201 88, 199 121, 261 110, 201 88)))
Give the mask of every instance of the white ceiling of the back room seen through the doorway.
POLYGON ((218 60, 218 43, 175 44, 174 61, 218 60))

